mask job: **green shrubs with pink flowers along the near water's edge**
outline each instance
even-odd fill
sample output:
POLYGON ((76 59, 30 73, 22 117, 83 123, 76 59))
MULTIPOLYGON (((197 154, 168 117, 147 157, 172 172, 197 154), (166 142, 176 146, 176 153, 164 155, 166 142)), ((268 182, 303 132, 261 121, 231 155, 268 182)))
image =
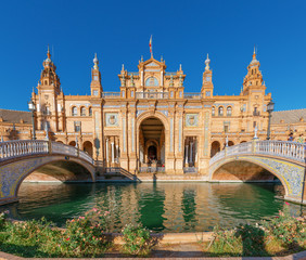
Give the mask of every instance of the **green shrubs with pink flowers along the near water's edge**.
MULTIPOLYGON (((73 258, 103 257, 107 251, 125 256, 150 256, 158 237, 141 225, 123 230, 124 245, 114 245, 107 235, 110 212, 98 208, 59 229, 46 219, 12 222, 0 214, 0 250, 21 257, 73 258)), ((290 216, 289 207, 277 218, 258 224, 243 224, 232 230, 215 227, 211 242, 200 242, 204 256, 262 257, 284 256, 306 249, 305 218, 290 216)), ((156 247, 155 247, 156 248, 156 247)))

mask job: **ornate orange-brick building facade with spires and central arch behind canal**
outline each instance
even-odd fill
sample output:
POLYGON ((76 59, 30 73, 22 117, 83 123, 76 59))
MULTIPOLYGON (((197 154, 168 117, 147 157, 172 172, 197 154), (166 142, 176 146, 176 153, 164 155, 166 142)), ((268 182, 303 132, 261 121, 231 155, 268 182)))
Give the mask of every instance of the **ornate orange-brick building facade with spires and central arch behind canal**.
MULTIPOLYGON (((184 92, 181 66, 167 72, 165 61, 153 56, 141 58, 135 73, 123 66, 119 91, 103 92, 95 56, 91 94, 65 95, 48 51, 37 91, 31 94, 37 136, 78 145, 106 168, 141 172, 154 165, 173 174, 190 169, 206 174, 209 158, 226 143, 251 141, 255 129, 259 139, 266 139, 266 108, 271 100, 255 52, 239 95, 214 95, 209 64, 207 55, 199 93, 184 92)), ((1 115, 0 126, 4 141, 10 139, 1 115)), ((31 138, 29 119, 23 126, 27 131, 18 138, 31 138)))

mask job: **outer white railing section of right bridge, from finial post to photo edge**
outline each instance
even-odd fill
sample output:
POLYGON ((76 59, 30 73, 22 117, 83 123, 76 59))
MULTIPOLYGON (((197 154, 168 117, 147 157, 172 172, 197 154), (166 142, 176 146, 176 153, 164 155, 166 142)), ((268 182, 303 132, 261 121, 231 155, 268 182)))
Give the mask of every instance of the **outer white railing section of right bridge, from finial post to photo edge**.
POLYGON ((305 144, 286 141, 257 141, 256 153, 305 161, 305 144))

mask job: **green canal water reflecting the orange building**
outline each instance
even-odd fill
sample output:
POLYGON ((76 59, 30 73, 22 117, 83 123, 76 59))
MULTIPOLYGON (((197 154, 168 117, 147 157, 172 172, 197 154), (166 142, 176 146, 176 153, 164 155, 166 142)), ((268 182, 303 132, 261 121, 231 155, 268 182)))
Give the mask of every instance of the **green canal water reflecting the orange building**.
MULTIPOLYGON (((110 211, 110 231, 142 223, 154 232, 212 231, 277 216, 284 206, 276 184, 246 183, 23 183, 20 203, 0 207, 11 218, 48 220, 63 225, 93 207, 110 211)), ((292 214, 305 207, 290 204, 292 214)))

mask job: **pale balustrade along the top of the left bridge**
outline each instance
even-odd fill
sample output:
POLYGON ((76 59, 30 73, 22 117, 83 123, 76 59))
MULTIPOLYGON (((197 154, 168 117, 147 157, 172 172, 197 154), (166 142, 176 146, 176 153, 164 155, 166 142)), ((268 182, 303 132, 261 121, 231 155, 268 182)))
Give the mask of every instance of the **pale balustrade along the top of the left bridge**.
POLYGON ((79 157, 91 165, 93 159, 78 148, 43 140, 12 140, 0 142, 0 161, 31 155, 62 154, 65 156, 79 157))

